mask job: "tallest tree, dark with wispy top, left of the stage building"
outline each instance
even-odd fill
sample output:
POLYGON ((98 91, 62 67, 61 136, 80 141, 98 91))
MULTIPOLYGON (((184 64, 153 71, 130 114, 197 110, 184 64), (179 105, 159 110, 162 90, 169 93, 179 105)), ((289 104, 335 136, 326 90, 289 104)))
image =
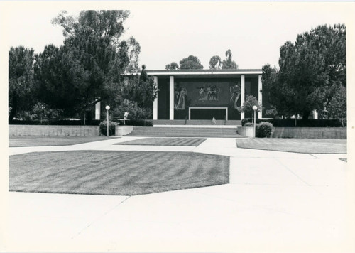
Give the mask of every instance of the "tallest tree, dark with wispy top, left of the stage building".
POLYGON ((38 57, 35 70, 44 102, 85 117, 96 102, 116 99, 122 74, 138 71, 139 43, 133 37, 121 40, 128 16, 129 11, 81 11, 73 18, 62 11, 53 19, 62 26, 65 42, 38 57))

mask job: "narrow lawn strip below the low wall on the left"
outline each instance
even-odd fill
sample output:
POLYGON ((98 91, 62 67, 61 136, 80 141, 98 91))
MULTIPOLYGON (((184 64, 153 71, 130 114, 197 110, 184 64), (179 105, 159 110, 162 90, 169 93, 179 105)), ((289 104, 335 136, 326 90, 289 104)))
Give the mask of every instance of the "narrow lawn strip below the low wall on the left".
POLYGON ((62 137, 42 137, 42 136, 16 136, 9 138, 9 147, 16 146, 65 146, 83 144, 92 141, 107 140, 107 136, 62 136, 62 137))

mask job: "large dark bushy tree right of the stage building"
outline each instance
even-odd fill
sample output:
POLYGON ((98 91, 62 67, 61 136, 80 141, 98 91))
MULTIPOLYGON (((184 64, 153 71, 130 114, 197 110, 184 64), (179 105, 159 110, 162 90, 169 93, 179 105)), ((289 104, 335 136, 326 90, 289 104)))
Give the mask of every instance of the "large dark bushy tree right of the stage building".
POLYGON ((280 48, 280 69, 263 66, 263 94, 280 114, 301 114, 327 106, 334 89, 346 87, 346 28, 317 26, 280 48))

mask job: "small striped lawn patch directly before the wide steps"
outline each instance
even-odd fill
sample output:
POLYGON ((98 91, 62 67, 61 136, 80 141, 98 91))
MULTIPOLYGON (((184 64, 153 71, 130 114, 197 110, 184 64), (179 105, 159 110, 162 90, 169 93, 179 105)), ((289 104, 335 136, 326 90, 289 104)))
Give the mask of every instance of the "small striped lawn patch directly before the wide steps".
POLYGON ((115 145, 199 146, 206 140, 205 138, 144 138, 115 145))

